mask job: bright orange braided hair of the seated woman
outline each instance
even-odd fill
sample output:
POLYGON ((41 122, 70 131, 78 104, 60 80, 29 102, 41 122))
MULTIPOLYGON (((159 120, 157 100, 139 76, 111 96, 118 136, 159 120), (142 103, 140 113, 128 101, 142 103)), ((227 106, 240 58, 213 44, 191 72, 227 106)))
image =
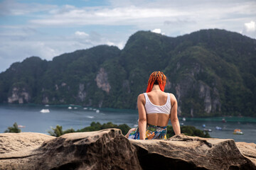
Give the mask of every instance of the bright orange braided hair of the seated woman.
POLYGON ((149 77, 146 93, 152 90, 155 81, 158 82, 161 91, 164 91, 164 86, 166 84, 166 76, 164 75, 163 72, 152 72, 149 77))

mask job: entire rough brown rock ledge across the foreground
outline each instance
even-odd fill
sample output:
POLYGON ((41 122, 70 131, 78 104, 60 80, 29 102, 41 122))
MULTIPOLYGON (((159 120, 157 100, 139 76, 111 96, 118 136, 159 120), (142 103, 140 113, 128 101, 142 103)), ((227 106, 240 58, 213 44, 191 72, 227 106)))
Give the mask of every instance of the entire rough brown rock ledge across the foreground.
POLYGON ((253 143, 186 135, 127 140, 117 129, 0 134, 0 151, 0 169, 256 169, 253 143))

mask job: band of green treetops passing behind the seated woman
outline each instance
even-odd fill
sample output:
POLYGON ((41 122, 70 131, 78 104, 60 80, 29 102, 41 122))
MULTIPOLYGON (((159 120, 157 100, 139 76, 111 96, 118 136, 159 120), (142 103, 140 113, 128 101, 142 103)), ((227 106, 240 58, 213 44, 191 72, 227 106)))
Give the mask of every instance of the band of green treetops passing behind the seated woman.
MULTIPOLYGON (((68 130, 62 130, 62 126, 56 125, 56 128, 52 128, 51 131, 48 131, 48 133, 52 136, 59 137, 61 135, 64 135, 66 133, 70 132, 92 132, 92 131, 97 131, 97 130, 104 130, 108 128, 117 128, 122 131, 123 135, 126 135, 127 132, 131 129, 128 125, 122 124, 122 125, 114 125, 113 123, 104 123, 101 125, 100 123, 95 123, 92 122, 90 126, 82 128, 80 130, 73 130, 73 129, 68 129, 68 130)), ((181 126, 181 132, 185 135, 188 136, 198 136, 198 137, 210 137, 208 132, 203 132, 203 130, 198 130, 193 126, 181 126)), ((174 136, 174 129, 172 126, 168 125, 167 126, 167 138, 174 136)))

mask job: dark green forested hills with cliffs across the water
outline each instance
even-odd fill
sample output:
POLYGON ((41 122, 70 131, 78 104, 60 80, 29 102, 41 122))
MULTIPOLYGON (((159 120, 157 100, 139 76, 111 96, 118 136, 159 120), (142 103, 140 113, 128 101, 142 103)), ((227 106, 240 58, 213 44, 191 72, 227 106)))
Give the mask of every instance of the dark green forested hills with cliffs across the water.
POLYGON ((136 108, 151 72, 183 116, 256 116, 256 40, 226 30, 170 38, 134 33, 123 50, 100 45, 54 57, 29 57, 0 74, 1 103, 136 108))

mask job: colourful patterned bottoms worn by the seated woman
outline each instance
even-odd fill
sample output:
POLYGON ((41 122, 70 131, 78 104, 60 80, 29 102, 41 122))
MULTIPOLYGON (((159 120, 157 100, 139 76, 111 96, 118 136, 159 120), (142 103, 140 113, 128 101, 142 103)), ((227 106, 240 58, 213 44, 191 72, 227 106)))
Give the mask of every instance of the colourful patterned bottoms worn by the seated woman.
MULTIPOLYGON (((166 126, 156 126, 146 124, 146 138, 145 140, 166 140, 166 126)), ((139 128, 134 128, 129 134, 129 140, 139 140, 139 128)))

